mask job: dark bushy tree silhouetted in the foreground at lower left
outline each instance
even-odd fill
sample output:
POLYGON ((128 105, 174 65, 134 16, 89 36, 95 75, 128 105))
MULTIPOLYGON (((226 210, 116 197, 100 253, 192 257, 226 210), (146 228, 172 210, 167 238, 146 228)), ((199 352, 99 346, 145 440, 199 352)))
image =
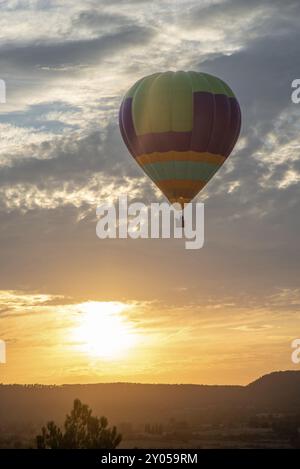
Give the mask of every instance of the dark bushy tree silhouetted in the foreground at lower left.
POLYGON ((116 427, 108 427, 105 417, 92 416, 92 410, 75 399, 66 416, 64 432, 54 422, 48 422, 36 437, 36 444, 38 449, 114 449, 121 439, 116 427))

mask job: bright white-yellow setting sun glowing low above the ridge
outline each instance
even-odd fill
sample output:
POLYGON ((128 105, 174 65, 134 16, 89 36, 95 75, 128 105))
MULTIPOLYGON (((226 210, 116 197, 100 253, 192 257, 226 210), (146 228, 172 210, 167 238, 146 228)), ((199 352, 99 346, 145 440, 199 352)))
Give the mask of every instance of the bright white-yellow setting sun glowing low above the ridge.
POLYGON ((79 323, 73 338, 85 352, 114 360, 124 358, 137 343, 133 324, 124 314, 132 306, 120 302, 89 301, 78 307, 79 323))

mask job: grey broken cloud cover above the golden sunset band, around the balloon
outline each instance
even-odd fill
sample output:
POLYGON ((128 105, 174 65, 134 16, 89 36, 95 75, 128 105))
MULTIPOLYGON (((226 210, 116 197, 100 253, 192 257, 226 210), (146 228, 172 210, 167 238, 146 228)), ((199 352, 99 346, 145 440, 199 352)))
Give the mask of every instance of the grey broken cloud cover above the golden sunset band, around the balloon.
POLYGON ((51 26, 37 39, 32 24, 21 44, 11 17, 0 51, 10 97, 1 107, 6 287, 95 295, 101 284, 108 295, 203 296, 222 307, 224 292, 230 301, 259 303, 278 288, 296 288, 299 126, 290 83, 298 75, 298 3, 170 5, 58 2, 37 11, 15 3, 34 11, 39 24, 38 13, 49 14, 51 25, 57 18, 59 32, 51 26), (222 77, 243 113, 239 145, 198 198, 206 203, 206 240, 193 256, 176 241, 111 245, 95 235, 94 206, 102 197, 125 191, 157 200, 122 143, 117 112, 137 78, 167 68, 222 77), (28 266, 34 269, 27 273, 28 266), (182 285, 186 292, 176 290, 182 285))

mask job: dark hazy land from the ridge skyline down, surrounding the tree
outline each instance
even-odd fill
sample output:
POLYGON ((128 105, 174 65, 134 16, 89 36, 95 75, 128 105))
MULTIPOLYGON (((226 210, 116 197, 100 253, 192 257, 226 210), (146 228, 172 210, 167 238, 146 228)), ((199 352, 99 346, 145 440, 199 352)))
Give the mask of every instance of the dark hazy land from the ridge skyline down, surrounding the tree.
POLYGON ((2 448, 300 448, 300 372, 248 386, 0 385, 0 415, 2 448), (74 399, 90 408, 76 400, 65 420, 74 399))

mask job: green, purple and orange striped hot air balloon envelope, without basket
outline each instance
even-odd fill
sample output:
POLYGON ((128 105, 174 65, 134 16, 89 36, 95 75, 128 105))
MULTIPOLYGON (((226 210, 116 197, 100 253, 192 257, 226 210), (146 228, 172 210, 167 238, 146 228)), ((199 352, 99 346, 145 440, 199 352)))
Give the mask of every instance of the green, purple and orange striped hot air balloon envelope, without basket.
POLYGON ((171 203, 183 207, 230 155, 241 112, 232 90, 219 78, 164 72, 130 88, 119 124, 136 162, 171 203))

